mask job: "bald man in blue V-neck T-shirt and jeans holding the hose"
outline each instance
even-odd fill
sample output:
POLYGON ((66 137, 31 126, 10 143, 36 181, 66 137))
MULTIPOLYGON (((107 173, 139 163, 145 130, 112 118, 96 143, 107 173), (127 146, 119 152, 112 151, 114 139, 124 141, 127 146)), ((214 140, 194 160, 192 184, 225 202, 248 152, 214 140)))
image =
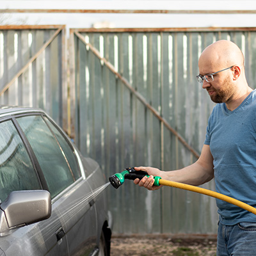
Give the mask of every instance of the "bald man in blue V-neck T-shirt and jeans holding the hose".
MULTIPOLYGON (((159 187, 153 186, 153 176, 195 186, 215 178, 217 192, 256 207, 256 91, 246 81, 243 53, 236 44, 220 40, 202 52, 198 68, 198 81, 218 103, 198 161, 169 172, 136 167, 150 177, 134 183, 155 190, 159 187)), ((220 214, 217 255, 256 255, 256 215, 216 202, 220 214)))

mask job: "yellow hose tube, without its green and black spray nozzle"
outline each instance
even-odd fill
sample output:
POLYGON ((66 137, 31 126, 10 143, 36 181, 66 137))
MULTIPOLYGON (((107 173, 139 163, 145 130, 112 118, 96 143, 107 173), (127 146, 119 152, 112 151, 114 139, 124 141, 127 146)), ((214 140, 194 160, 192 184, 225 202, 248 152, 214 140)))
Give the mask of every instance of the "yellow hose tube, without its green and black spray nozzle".
POLYGON ((185 189, 185 190, 193 191, 193 192, 200 193, 200 194, 203 194, 203 195, 212 196, 214 198, 218 198, 218 199, 223 200, 225 202, 228 202, 230 204, 234 204, 238 207, 241 207, 244 210, 252 212, 253 214, 256 215, 256 209, 254 207, 252 207, 251 205, 245 204, 244 202, 241 202, 241 201, 239 201, 237 199, 234 199, 230 196, 225 196, 221 193, 211 191, 209 189, 199 188, 199 187, 196 187, 196 186, 191 186, 191 185, 188 185, 188 184, 184 184, 184 183, 180 183, 180 182, 174 182, 174 181, 170 181, 170 180, 163 180, 163 179, 159 179, 159 185, 169 186, 169 187, 173 187, 173 188, 185 189))

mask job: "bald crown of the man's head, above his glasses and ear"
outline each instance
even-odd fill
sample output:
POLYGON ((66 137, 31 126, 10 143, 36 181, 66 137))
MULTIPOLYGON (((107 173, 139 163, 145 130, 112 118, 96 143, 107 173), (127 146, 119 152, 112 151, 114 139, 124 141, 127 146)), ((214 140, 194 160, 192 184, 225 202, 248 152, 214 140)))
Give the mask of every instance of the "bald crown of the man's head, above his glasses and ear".
MULTIPOLYGON (((199 68, 207 65, 212 70, 220 70, 232 65, 243 68, 244 56, 236 44, 227 40, 220 40, 205 48, 199 58, 198 65, 199 68)), ((202 70, 202 72, 204 71, 202 70)))

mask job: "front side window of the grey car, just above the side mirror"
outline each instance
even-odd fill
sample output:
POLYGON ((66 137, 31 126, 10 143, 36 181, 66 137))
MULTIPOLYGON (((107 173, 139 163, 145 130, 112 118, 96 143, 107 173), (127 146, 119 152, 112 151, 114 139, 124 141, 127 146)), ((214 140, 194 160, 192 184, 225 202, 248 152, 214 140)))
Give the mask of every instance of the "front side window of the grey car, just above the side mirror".
POLYGON ((0 200, 12 191, 41 189, 40 182, 11 120, 0 123, 0 200))

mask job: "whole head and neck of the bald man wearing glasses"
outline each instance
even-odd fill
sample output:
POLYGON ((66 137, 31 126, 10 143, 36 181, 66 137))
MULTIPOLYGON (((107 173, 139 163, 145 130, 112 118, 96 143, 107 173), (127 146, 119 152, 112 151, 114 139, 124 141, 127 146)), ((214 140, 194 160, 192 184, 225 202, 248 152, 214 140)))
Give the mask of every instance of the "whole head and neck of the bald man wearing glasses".
POLYGON ((213 102, 224 102, 231 111, 252 92, 246 81, 243 52, 230 41, 220 40, 205 48, 198 68, 201 77, 214 73, 212 81, 204 79, 202 88, 213 102))

